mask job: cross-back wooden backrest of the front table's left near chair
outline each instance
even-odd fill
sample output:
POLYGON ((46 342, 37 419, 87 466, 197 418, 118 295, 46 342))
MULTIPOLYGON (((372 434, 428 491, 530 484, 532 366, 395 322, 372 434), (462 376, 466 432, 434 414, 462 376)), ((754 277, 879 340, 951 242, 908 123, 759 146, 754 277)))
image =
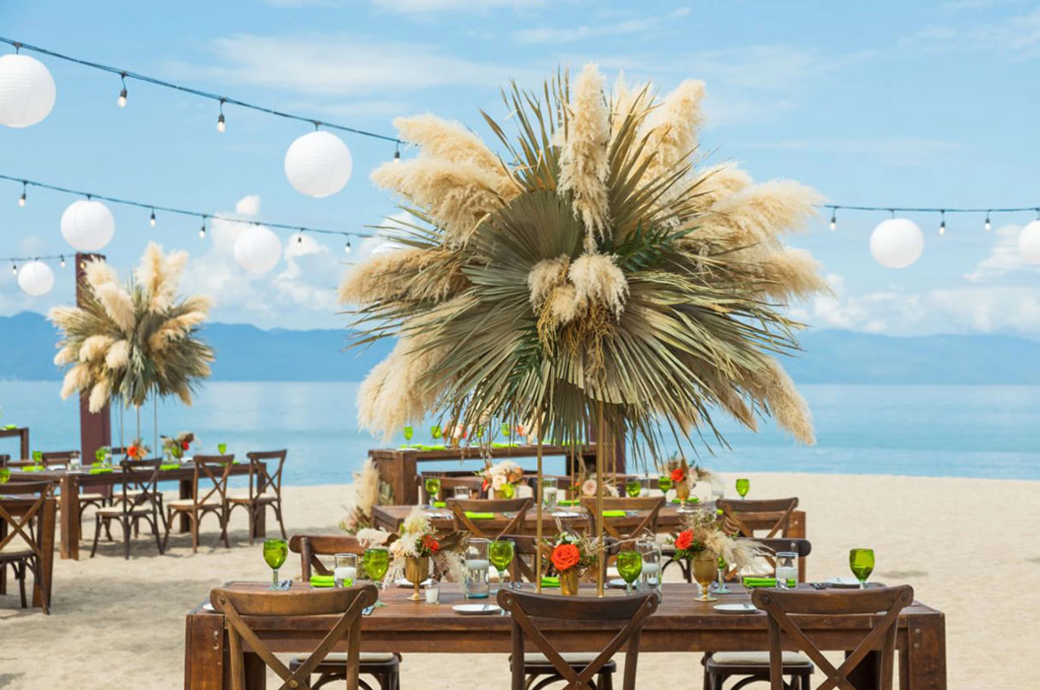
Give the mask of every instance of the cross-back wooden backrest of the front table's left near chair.
POLYGON ((361 665, 361 615, 365 607, 376 600, 374 585, 342 589, 293 591, 236 591, 214 589, 209 595, 213 608, 224 613, 228 629, 231 660, 231 683, 234 690, 244 690, 245 673, 242 642, 284 681, 282 688, 310 688, 314 669, 324 661, 333 647, 347 638, 346 687, 358 690, 358 669, 361 665), (293 617, 339 614, 340 618, 329 634, 295 671, 290 671, 276 657, 242 616, 293 617))

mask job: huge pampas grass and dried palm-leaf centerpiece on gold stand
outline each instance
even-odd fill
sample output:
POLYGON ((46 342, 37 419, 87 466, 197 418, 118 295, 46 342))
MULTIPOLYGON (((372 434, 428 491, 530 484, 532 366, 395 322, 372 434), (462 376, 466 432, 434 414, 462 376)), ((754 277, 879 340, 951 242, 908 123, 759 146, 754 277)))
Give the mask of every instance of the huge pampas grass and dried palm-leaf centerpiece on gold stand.
POLYGON ((372 181, 409 220, 381 229, 388 250, 340 289, 359 343, 397 339, 359 389, 362 427, 392 434, 440 410, 471 427, 528 420, 564 446, 594 427, 598 476, 622 435, 639 457, 724 443, 716 409, 751 428, 772 415, 812 443, 775 355, 798 347, 784 303, 827 289, 782 242, 822 200, 705 164, 703 94, 693 80, 666 97, 607 89, 595 64, 513 85, 517 131, 484 114, 500 153, 434 115, 395 121, 418 154, 372 181))

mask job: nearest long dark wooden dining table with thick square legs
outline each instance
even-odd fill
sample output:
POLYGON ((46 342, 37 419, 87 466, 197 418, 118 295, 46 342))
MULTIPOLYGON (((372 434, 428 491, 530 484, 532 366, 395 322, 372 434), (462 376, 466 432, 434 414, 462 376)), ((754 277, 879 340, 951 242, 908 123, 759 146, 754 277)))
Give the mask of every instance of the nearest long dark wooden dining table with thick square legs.
MULTIPOLYGON (((232 582, 233 589, 261 590, 267 583, 232 582)), ((530 587, 530 585, 527 585, 530 587)), ((739 584, 732 594, 721 596, 727 604, 750 603, 750 595, 739 584)), ((289 592, 310 591, 310 586, 293 582, 289 592)), ((551 591, 551 590, 547 590, 551 591)), ((696 653, 769 649, 766 615, 760 611, 732 614, 712 608, 713 604, 695 601, 697 587, 685 583, 665 583, 658 609, 647 618, 640 640, 641 652, 696 653)), ((362 618, 361 649, 364 652, 400 652, 405 654, 501 654, 511 652, 509 616, 461 615, 452 606, 466 602, 458 585, 444 583, 440 604, 412 602, 410 589, 390 587, 381 592, 385 607, 375 608, 362 618)), ((582 591, 592 595, 592 590, 582 591)), ((621 590, 608 590, 609 596, 623 596, 621 590)), ((276 654, 308 654, 317 646, 333 625, 335 615, 245 616, 248 625, 276 654)), ((868 631, 876 615, 804 616, 799 623, 821 649, 853 649, 868 631)), ((586 620, 545 621, 543 629, 561 652, 599 652, 613 637, 615 628, 586 620)), ((184 687, 186 690, 223 690, 231 688, 228 678, 229 645, 224 614, 207 611, 203 604, 185 618, 184 687)), ((903 690, 945 690, 945 622, 940 611, 918 602, 900 615, 895 640, 900 652, 903 690)), ((792 647, 791 647, 792 648, 792 647)), ((245 651, 246 687, 265 687, 265 670, 259 657, 248 645, 245 651)), ((336 647, 346 651, 346 640, 336 647)), ((536 651, 531 647, 530 651, 536 651)), ((408 663, 407 657, 405 663, 408 663)), ((878 686, 877 664, 860 664, 858 688, 878 686)), ((676 666, 678 667, 678 666, 676 666)), ((682 666, 692 674, 699 666, 682 666)), ((644 679, 646 683, 646 679, 644 679)), ((691 678, 690 685, 700 680, 691 678)), ((474 683, 473 688, 502 688, 509 685, 504 663, 501 678, 474 683)))

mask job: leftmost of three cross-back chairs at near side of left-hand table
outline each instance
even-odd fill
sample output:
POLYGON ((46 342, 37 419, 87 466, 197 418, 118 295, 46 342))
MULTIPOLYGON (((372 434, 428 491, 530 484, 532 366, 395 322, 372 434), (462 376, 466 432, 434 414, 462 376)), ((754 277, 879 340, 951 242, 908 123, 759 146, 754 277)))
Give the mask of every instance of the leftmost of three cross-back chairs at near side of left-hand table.
POLYGON ((98 537, 101 529, 109 532, 112 522, 123 528, 123 558, 130 558, 130 530, 138 532, 137 523, 144 520, 152 526, 155 546, 162 554, 162 538, 159 535, 159 521, 162 513, 159 508, 159 468, 161 459, 126 460, 120 462, 123 471, 123 490, 114 505, 98 508, 95 513, 94 546, 90 547, 90 558, 98 551, 98 537))

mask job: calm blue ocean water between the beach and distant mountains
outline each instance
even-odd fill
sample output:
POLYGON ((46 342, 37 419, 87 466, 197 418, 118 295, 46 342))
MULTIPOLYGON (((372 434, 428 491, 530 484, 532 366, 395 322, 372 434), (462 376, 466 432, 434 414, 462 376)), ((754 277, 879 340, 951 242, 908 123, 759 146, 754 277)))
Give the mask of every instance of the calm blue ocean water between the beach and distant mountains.
MULTIPOLYGON (((33 450, 78 446, 78 404, 62 402, 56 381, 0 381, 0 424, 30 427, 33 450)), ((194 405, 160 403, 158 429, 193 431, 206 452, 217 443, 244 457, 250 450, 289 451, 290 484, 346 483, 380 447, 360 431, 357 383, 210 382, 194 405)), ((1040 388, 1014 386, 804 386, 817 443, 796 444, 771 421, 758 433, 724 423, 731 449, 702 449, 705 465, 723 472, 813 472, 1040 479, 1040 388)), ((113 412, 113 443, 119 415, 113 412)), ((124 416, 126 440, 133 413, 124 416)), ((141 410, 146 443, 153 437, 153 407, 141 410)), ((412 443, 431 443, 428 425, 416 425, 412 443)), ((0 453, 18 453, 16 439, 0 453)), ((398 437, 394 443, 404 443, 398 437)), ((525 465, 532 465, 525 462, 525 465)), ((433 469, 431 465, 430 469, 433 469)), ((442 467, 459 467, 448 462, 442 467)), ((466 467, 475 469, 473 462, 466 467)), ((561 471, 562 460, 547 461, 561 471)))

